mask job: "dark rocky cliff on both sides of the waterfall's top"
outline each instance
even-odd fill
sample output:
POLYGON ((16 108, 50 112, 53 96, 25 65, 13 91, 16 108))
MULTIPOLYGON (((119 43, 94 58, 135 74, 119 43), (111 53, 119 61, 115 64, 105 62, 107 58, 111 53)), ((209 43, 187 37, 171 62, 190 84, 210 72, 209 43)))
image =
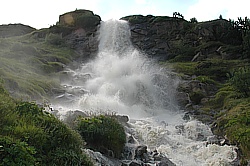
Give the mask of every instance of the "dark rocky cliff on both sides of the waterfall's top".
MULTIPOLYGON (((165 61, 199 61, 211 57, 241 57, 242 35, 231 22, 217 19, 191 22, 178 17, 132 15, 121 18, 131 27, 135 47, 149 57, 165 61)), ((59 22, 47 33, 61 34, 67 45, 86 58, 98 50, 101 17, 89 10, 76 10, 59 16, 59 22)))

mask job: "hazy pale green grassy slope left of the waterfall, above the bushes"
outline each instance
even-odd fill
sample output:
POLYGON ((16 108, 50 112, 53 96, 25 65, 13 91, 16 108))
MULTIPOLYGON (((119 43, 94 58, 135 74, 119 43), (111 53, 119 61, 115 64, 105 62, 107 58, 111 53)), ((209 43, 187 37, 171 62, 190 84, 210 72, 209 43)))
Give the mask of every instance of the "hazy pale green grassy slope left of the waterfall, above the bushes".
POLYGON ((73 50, 60 36, 38 38, 34 33, 0 38, 0 77, 16 98, 41 100, 59 88, 58 72, 72 61, 73 50))

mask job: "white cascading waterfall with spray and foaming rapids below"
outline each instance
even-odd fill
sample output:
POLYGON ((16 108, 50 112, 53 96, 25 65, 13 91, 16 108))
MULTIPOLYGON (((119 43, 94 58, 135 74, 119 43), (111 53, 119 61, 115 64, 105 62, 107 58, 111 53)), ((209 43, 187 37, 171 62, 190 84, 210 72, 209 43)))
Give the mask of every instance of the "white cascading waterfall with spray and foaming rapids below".
POLYGON ((174 100, 178 81, 132 46, 126 21, 102 22, 99 40, 96 59, 68 70, 74 79, 65 83, 68 93, 58 97, 68 102, 54 106, 62 114, 68 107, 128 115, 128 134, 176 165, 230 165, 236 159, 235 147, 206 143, 213 137, 208 126, 183 120, 174 100))

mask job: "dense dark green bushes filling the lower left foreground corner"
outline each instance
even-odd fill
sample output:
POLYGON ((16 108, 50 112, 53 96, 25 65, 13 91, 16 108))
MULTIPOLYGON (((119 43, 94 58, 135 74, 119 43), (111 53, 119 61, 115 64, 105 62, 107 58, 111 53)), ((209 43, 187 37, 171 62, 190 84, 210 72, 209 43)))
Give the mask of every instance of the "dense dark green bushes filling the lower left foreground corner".
POLYGON ((80 135, 0 86, 0 165, 92 165, 80 135))

